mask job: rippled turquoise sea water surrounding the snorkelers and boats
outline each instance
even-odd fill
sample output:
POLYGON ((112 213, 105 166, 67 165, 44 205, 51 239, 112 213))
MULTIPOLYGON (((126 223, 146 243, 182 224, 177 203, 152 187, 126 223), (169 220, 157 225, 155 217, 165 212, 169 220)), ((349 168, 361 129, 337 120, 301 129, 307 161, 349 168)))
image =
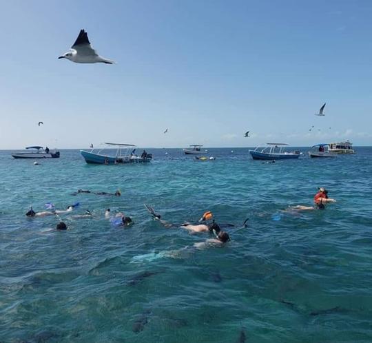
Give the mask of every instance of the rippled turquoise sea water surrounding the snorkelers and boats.
POLYGON ((77 150, 39 166, 0 152, 0 341, 371 342, 372 148, 275 164, 209 151, 216 161, 149 149, 148 165, 112 166, 77 150), (312 205, 318 186, 338 202, 278 218, 312 205), (73 196, 79 188, 123 195, 73 196), (62 215, 68 231, 24 215, 77 201, 74 214, 94 218, 62 215), (225 247, 196 249, 206 233, 165 229, 144 203, 165 220, 210 210, 237 227, 225 247), (114 227, 108 207, 135 225, 114 227))

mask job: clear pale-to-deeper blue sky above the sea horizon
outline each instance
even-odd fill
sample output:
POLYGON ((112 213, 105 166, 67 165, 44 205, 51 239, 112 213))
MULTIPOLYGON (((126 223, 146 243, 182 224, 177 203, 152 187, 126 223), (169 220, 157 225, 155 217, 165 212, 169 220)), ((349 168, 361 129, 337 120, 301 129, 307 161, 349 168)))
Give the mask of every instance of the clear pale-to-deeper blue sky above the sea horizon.
POLYGON ((0 149, 372 145, 371 17, 369 0, 0 0, 0 149), (82 28, 115 65, 57 59, 82 28))

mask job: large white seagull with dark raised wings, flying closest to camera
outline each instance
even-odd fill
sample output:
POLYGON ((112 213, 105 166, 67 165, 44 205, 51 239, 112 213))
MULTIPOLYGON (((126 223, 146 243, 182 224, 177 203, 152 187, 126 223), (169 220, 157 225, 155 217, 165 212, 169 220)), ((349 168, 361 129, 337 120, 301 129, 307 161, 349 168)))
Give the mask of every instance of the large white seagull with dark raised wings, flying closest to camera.
POLYGON ((59 59, 69 59, 76 63, 107 63, 114 64, 114 61, 105 59, 96 53, 96 50, 90 45, 90 41, 87 38, 87 32, 80 30, 79 36, 76 38, 74 45, 68 52, 65 52, 59 59))

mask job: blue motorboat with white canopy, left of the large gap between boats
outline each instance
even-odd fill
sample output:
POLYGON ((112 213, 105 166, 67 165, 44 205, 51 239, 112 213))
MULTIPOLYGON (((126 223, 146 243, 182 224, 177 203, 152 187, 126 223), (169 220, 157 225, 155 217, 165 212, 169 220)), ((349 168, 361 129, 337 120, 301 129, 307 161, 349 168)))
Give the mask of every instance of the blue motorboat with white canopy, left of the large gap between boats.
POLYGON ((136 154, 136 145, 122 143, 105 143, 100 149, 92 148, 90 151, 80 150, 86 163, 96 165, 118 165, 127 163, 146 163, 152 160, 152 154, 143 151, 141 156, 136 154), (112 154, 112 149, 116 152, 112 154), (110 151, 111 150, 111 151, 110 151))

